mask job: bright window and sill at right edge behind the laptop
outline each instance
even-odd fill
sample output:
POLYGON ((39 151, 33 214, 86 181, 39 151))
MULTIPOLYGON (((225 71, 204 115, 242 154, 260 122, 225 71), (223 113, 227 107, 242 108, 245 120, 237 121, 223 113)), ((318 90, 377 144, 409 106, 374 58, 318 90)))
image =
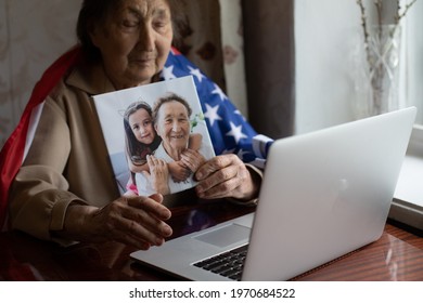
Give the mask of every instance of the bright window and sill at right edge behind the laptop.
POLYGON ((423 229, 423 2, 416 1, 402 23, 400 97, 418 107, 415 126, 395 192, 389 218, 423 229))

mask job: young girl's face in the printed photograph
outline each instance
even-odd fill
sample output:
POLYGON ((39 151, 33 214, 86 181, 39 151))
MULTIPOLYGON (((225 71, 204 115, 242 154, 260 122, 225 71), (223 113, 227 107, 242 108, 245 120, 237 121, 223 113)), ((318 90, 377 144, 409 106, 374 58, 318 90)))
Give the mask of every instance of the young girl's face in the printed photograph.
POLYGON ((150 114, 140 108, 129 116, 129 126, 137 140, 145 145, 150 145, 154 141, 155 132, 153 121, 150 114))

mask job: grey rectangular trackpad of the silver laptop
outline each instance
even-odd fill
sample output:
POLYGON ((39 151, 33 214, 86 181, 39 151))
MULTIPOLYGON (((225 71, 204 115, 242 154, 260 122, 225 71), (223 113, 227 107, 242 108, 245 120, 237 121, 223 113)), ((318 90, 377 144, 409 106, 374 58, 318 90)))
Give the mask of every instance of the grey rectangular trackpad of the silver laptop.
POLYGON ((246 240, 249 237, 251 228, 238 224, 230 224, 194 237, 200 241, 217 247, 227 247, 234 242, 246 240))

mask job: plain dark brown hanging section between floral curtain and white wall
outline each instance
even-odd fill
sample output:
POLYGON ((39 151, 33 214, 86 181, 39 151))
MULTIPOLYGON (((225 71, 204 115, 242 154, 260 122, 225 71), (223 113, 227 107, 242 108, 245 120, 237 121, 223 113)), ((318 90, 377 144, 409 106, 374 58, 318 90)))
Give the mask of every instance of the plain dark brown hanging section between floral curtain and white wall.
POLYGON ((243 0, 249 122, 279 139, 294 133, 294 0, 243 0))

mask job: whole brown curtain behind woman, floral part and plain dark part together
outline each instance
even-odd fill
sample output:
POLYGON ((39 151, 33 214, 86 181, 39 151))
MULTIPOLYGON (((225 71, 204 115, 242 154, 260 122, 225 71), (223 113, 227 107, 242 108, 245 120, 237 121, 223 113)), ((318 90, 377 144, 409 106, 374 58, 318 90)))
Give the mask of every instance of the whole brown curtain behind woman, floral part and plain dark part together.
POLYGON ((294 132, 293 0, 184 0, 182 53, 217 82, 252 126, 294 132))

